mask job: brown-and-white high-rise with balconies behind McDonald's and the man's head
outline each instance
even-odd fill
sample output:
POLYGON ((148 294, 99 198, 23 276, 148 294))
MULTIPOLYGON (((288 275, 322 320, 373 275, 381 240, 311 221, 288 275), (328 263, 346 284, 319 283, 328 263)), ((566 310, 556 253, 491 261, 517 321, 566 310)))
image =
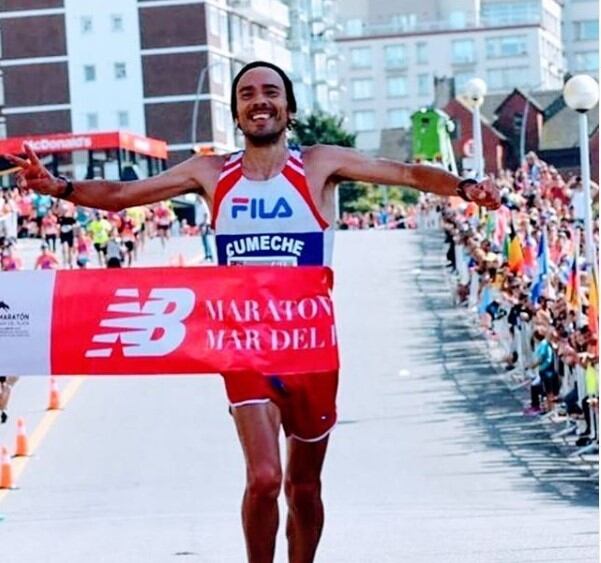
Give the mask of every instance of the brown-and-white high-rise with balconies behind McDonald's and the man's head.
MULTIPOLYGON (((309 39, 332 19, 331 0, 289 3, 309 39)), ((171 163, 193 147, 231 150, 231 80, 256 59, 308 77, 301 108, 327 110, 310 42, 293 73, 290 10, 280 0, 4 0, 0 135, 128 130, 166 140, 171 163)))

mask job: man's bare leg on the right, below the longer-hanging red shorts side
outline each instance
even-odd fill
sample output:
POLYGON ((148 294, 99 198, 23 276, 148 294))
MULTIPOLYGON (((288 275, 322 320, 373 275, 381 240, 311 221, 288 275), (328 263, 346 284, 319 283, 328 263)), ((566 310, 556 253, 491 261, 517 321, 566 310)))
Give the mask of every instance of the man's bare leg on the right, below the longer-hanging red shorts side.
POLYGON ((285 491, 288 501, 288 558, 290 563, 312 563, 323 528, 321 469, 328 437, 319 442, 288 438, 285 491))

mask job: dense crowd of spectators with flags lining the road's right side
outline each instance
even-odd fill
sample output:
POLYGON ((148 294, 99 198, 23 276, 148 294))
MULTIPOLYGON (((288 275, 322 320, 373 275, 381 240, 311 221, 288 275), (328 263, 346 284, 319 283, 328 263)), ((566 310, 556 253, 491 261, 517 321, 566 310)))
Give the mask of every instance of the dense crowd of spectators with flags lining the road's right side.
POLYGON ((493 180, 502 194, 498 211, 457 202, 443 210, 457 298, 479 314, 489 336, 506 331, 505 367, 530 385, 524 413, 584 417, 577 445, 585 446, 598 440, 591 416, 598 397, 598 286, 584 233, 590 205, 597 251, 598 186, 592 182, 587 201, 578 174, 564 176, 534 153, 522 168, 493 180), (586 376, 579 378, 579 370, 586 376))

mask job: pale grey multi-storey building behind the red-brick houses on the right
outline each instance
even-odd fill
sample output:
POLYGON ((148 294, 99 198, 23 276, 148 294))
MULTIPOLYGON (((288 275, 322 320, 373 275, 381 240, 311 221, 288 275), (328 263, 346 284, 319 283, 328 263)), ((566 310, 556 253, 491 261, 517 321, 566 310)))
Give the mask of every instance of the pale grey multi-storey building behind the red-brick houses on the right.
POLYGON ((341 107, 358 146, 376 152, 382 129, 408 127, 434 77, 453 77, 458 93, 475 76, 491 93, 561 88, 561 19, 559 0, 345 2, 341 107))

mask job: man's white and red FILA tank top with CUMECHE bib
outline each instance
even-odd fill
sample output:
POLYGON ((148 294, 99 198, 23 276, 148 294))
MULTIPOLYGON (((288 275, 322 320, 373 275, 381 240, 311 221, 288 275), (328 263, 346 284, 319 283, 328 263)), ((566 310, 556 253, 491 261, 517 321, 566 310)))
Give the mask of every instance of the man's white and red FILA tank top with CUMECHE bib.
POLYGON ((321 216, 300 150, 269 180, 242 174, 244 151, 223 166, 213 202, 220 265, 330 266, 334 231, 321 216))

